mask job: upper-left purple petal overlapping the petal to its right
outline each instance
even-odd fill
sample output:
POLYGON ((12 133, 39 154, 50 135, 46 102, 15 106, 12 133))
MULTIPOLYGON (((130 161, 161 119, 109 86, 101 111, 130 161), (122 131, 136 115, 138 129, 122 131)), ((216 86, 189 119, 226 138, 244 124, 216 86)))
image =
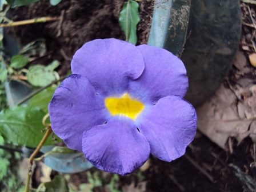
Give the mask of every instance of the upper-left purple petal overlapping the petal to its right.
POLYGON ((96 92, 105 96, 123 94, 129 79, 137 79, 144 67, 137 47, 118 39, 87 42, 71 61, 72 73, 85 75, 96 92))

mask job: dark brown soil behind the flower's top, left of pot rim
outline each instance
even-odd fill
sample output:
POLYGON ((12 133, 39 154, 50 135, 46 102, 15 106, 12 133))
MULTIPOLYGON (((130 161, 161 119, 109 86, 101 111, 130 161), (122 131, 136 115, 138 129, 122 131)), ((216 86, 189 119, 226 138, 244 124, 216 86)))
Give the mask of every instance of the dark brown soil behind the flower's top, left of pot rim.
MULTIPOLYGON (((22 21, 38 17, 61 18, 55 22, 15 27, 21 45, 37 38, 46 39, 47 50, 52 51, 46 62, 53 59, 61 61, 58 71, 60 75, 67 74, 71 58, 84 43, 97 38, 125 40, 125 34, 118 23, 125 0, 62 0, 57 6, 51 6, 49 2, 41 0, 30 6, 18 7, 13 10, 12 19, 22 21)), ((139 2, 141 21, 137 27, 138 45, 147 43, 153 7, 154 1, 139 2)))

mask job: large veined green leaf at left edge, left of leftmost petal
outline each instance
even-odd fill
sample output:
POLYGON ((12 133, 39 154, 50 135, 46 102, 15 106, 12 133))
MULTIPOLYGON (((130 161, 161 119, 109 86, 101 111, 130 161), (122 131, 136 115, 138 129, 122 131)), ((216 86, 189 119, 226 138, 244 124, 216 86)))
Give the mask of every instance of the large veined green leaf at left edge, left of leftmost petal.
MULTIPOLYGON (((36 147, 43 135, 41 130, 45 128, 42 119, 45 113, 34 106, 14 106, 2 110, 0 113, 0 135, 6 142, 14 145, 36 147)), ((45 145, 53 145, 55 142, 48 138, 45 145)))

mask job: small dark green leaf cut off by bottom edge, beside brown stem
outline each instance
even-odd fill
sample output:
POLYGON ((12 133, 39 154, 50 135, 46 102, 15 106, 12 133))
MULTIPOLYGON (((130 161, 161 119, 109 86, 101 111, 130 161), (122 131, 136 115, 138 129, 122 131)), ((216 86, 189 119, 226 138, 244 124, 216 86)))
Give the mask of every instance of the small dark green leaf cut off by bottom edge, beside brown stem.
POLYGON ((45 183, 45 192, 69 192, 69 186, 65 178, 57 175, 53 181, 45 183))

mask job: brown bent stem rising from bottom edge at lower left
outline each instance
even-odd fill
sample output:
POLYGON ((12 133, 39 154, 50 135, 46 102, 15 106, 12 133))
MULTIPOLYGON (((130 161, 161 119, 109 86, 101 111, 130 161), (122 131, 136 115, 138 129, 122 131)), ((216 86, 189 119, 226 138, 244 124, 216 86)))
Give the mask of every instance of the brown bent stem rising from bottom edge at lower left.
POLYGON ((30 178, 31 178, 31 175, 32 175, 32 165, 33 165, 33 161, 34 161, 35 155, 37 155, 39 150, 42 148, 43 144, 46 142, 46 139, 53 132, 53 130, 51 130, 50 126, 47 127, 47 128, 48 129, 47 129, 45 135, 43 136, 41 142, 37 146, 37 149, 35 149, 33 154, 30 155, 30 158, 29 158, 29 171, 27 172, 27 181, 26 181, 26 190, 25 190, 25 192, 29 192, 29 183, 30 183, 30 178))

